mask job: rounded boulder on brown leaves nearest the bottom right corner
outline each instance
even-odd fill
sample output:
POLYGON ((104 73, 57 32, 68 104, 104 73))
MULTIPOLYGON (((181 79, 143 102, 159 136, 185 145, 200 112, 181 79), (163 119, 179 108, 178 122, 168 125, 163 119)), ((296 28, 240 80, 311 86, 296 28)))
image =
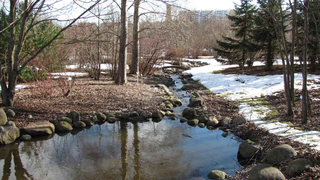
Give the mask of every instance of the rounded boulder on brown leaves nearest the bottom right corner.
POLYGON ((292 176, 295 174, 303 173, 305 170, 313 167, 313 163, 310 160, 307 159, 296 159, 291 161, 287 168, 285 169, 285 174, 292 176))

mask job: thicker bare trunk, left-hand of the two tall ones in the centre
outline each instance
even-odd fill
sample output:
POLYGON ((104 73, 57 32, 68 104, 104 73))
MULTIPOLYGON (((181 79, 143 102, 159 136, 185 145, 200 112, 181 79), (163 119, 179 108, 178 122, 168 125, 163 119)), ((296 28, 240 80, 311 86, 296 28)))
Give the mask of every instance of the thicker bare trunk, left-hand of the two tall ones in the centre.
POLYGON ((119 47, 119 63, 115 83, 124 85, 127 83, 127 0, 121 0, 121 32, 119 47))

